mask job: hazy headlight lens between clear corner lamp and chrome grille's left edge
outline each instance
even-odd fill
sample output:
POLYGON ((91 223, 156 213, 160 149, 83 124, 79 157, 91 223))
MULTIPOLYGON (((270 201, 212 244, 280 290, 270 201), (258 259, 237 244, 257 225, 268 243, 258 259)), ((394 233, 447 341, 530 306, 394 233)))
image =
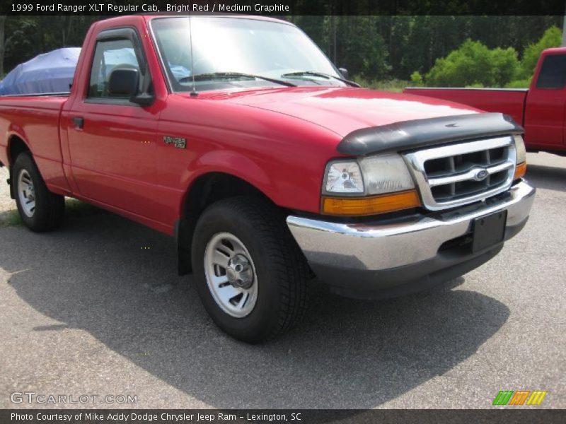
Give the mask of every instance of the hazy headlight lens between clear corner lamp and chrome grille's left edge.
POLYGON ((415 188, 407 165, 397 153, 368 156, 360 160, 366 194, 402 192, 415 188))

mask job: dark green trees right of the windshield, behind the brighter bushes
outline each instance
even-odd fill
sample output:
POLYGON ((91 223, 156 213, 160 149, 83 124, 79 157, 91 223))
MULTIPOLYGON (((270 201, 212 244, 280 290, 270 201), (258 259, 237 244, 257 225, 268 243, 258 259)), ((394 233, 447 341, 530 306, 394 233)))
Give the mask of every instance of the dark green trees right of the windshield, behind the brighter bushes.
MULTIPOLYGON (((509 47, 521 57, 524 49, 536 42, 546 28, 562 25, 561 16, 295 16, 289 19, 313 38, 337 66, 369 81, 409 80, 415 71, 424 76, 438 58, 446 57, 468 38, 490 51, 495 50, 491 55, 492 66, 506 66, 516 59, 509 47), (496 57, 497 54, 502 58, 496 57)), ((509 75, 507 69, 494 67, 487 81, 467 83, 487 86, 494 81, 504 85, 516 77, 509 75)))

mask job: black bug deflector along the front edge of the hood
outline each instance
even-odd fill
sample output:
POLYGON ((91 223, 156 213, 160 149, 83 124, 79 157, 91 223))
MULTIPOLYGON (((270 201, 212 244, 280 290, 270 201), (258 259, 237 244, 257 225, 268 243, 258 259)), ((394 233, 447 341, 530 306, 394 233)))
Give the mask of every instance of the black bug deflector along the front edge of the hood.
POLYGON ((522 126, 502 113, 473 113, 450 117, 414 119, 357 129, 344 137, 336 150, 345 155, 404 151, 451 141, 465 141, 505 134, 523 134, 522 126))

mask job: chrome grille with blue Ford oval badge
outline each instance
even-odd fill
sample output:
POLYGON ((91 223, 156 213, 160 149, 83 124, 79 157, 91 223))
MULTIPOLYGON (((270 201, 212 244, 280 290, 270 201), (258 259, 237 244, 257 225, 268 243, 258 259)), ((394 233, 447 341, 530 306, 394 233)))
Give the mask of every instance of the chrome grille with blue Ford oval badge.
POLYGON ((509 189, 515 172, 512 136, 451 144, 405 153, 424 206, 451 208, 509 189))

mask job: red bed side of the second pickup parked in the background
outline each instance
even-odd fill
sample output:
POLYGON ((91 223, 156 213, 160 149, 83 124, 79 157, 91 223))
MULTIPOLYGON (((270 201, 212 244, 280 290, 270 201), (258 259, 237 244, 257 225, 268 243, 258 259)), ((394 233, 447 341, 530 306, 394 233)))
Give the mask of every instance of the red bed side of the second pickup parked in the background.
POLYGON ((487 112, 502 112, 524 124, 528 88, 405 88, 403 93, 426 95, 477 107, 487 112))

